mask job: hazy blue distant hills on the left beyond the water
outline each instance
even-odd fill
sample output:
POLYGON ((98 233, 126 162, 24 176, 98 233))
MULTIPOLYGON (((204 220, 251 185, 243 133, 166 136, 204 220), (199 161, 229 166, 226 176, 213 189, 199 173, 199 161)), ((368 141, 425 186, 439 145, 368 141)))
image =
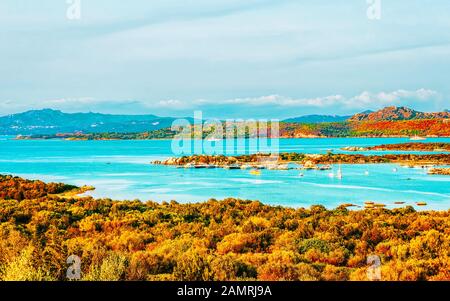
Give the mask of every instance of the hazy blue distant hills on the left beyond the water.
POLYGON ((57 133, 134 133, 170 127, 172 117, 155 115, 110 115, 63 113, 43 109, 0 117, 0 135, 57 133))

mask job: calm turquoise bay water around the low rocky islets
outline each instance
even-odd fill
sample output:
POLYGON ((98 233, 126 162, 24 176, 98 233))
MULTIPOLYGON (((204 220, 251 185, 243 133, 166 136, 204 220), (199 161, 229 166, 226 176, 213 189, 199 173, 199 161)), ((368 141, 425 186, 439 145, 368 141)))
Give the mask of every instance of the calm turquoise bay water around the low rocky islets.
MULTIPOLYGON (((282 139, 281 152, 342 152, 344 146, 407 142, 405 138, 282 139)), ((450 142, 450 138, 427 142, 450 142)), ((250 150, 256 151, 256 150, 250 150)), ((241 149, 240 153, 245 150, 241 149)), ((370 152, 383 153, 383 152, 370 152)), ((393 153, 393 152, 391 152, 393 153)), ((95 197, 113 199, 204 201, 237 197, 292 207, 371 200, 392 204, 426 201, 426 208, 450 208, 450 177, 391 164, 343 165, 344 178, 330 171, 262 171, 177 169, 149 162, 172 156, 171 142, 157 141, 16 141, 0 137, 0 173, 30 179, 93 185, 95 197), (398 168, 397 172, 393 169, 398 168), (368 172, 368 175, 366 174, 368 172)), ((336 167, 335 167, 336 169, 336 167)), ((392 207, 392 206, 390 206, 392 207)))

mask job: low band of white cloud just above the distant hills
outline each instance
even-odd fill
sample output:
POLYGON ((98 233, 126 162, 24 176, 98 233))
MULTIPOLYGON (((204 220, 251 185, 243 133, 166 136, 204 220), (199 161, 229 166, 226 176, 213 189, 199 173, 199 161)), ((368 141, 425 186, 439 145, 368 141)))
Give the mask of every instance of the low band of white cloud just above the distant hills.
POLYGON ((112 114, 157 114, 177 116, 189 114, 193 110, 213 110, 217 117, 236 112, 251 116, 264 115, 275 118, 290 115, 293 112, 309 112, 312 114, 355 113, 361 110, 377 110, 385 106, 409 106, 418 110, 446 109, 442 107, 442 95, 430 89, 395 90, 372 93, 364 91, 358 95, 329 95, 312 98, 293 98, 282 95, 266 95, 260 97, 232 98, 225 100, 167 99, 151 100, 101 100, 94 97, 59 98, 38 102, 0 101, 0 109, 4 114, 16 113, 30 109, 52 108, 65 112, 102 112, 112 114))

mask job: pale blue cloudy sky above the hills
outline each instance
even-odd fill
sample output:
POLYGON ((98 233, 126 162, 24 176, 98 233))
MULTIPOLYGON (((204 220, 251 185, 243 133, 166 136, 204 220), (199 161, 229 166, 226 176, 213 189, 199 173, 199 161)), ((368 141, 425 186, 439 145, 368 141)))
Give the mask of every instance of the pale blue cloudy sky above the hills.
POLYGON ((2 0, 0 115, 450 109, 448 0, 2 0))

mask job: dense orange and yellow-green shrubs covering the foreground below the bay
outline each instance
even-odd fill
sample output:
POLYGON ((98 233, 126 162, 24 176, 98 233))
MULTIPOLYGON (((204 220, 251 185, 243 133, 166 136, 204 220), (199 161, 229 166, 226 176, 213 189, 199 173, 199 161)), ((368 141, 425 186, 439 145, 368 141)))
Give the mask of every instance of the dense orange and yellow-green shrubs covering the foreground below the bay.
POLYGON ((84 280, 366 280, 372 254, 383 280, 450 280, 450 211, 61 198, 45 194, 63 184, 0 182, 32 196, 0 200, 3 280, 64 280, 72 254, 84 280))

